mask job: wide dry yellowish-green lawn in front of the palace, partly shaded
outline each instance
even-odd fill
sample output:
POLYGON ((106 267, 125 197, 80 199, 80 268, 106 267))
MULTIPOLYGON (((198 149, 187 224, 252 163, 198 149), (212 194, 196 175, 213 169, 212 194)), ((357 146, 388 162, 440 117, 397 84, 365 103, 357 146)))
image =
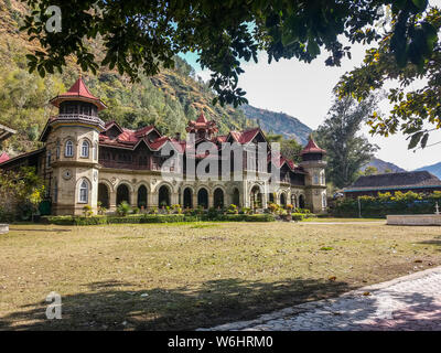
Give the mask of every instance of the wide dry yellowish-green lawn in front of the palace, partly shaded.
POLYGON ((252 319, 441 265, 440 245, 439 227, 384 222, 12 225, 0 235, 0 329, 252 319), (62 296, 61 320, 45 319, 51 291, 62 296))

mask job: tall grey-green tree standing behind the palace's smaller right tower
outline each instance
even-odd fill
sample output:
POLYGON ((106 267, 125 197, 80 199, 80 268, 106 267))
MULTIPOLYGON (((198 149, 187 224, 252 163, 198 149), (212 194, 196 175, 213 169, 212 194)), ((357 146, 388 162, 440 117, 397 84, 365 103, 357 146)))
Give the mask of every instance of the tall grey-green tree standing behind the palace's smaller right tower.
POLYGON ((319 146, 327 151, 327 180, 336 188, 349 185, 377 150, 358 135, 362 122, 375 109, 376 103, 375 96, 361 103, 349 97, 336 98, 329 117, 316 130, 319 146))

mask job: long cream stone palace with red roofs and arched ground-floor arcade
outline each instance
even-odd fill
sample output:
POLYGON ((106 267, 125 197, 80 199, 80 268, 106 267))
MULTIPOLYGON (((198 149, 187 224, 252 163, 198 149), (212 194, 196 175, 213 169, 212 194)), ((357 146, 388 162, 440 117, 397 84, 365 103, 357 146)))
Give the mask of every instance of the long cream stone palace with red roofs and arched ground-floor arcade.
POLYGON ((186 128, 189 135, 194 133, 194 147, 212 142, 219 157, 226 142, 246 147, 241 152, 243 178, 205 179, 197 174, 189 178, 191 158, 198 165, 213 154, 190 157, 186 140, 179 133, 162 136, 154 126, 130 130, 116 121, 104 122, 99 111, 106 109, 106 105, 90 94, 82 77, 50 103, 58 108, 58 115, 51 117, 43 129, 40 141, 44 147, 6 160, 0 168, 34 167, 45 180, 46 202, 54 215, 80 215, 85 205, 97 212, 98 202, 115 212, 122 201, 144 208, 172 204, 218 208, 236 204, 262 210, 273 202, 291 203, 314 213, 326 210, 326 162, 323 160, 326 152, 311 137, 299 164, 280 153, 275 158, 268 143, 268 156, 272 157, 261 169, 257 167, 261 163, 245 163, 256 158, 256 154, 247 154, 247 148, 267 141, 259 128, 218 135, 216 121, 201 114, 196 121, 189 121, 186 128), (172 174, 165 178, 161 172, 168 159, 161 153, 163 149, 182 157, 183 178, 172 174), (280 172, 276 186, 270 178, 273 168, 280 172))

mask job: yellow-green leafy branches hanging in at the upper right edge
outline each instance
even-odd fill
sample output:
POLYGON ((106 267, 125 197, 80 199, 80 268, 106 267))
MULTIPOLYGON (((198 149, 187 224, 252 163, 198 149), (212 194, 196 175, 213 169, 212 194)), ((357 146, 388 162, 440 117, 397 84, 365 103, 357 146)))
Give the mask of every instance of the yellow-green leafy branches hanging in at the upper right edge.
POLYGON ((418 146, 426 148, 430 132, 441 127, 440 28, 441 12, 438 8, 415 15, 412 25, 401 13, 394 15, 392 30, 384 34, 378 47, 368 50, 363 65, 341 78, 340 96, 357 99, 367 97, 389 81, 397 82, 388 90, 392 106, 389 115, 374 111, 367 121, 372 133, 387 137, 401 131, 410 139, 408 148, 415 149, 418 146), (412 39, 404 41, 397 31, 402 35, 410 34, 412 39), (413 85, 418 87, 421 83, 423 86, 416 89, 413 85))

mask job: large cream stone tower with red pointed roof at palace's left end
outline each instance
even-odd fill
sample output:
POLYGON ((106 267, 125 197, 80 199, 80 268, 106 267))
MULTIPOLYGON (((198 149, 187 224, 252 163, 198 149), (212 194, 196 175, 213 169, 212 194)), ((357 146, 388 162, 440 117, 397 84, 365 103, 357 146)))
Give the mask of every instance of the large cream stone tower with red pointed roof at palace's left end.
POLYGON ((93 96, 79 77, 69 90, 50 100, 58 108, 40 138, 45 142, 45 179, 55 215, 82 215, 84 206, 97 212, 99 132, 98 111, 106 105, 93 96))

